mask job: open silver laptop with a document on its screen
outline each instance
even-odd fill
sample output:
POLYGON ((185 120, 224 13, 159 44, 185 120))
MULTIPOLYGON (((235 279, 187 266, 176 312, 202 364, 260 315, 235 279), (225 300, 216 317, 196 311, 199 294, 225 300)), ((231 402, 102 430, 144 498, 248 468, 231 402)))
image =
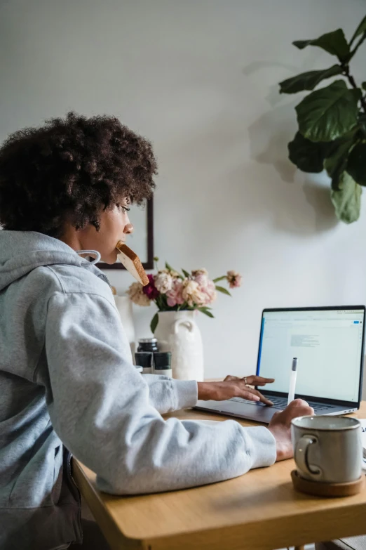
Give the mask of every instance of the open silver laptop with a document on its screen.
POLYGON ((295 398, 316 414, 348 414, 360 408, 365 306, 265 309, 259 335, 257 376, 274 378, 258 387, 273 401, 232 398, 198 401, 196 409, 269 424, 287 406, 292 359, 297 358, 295 398))

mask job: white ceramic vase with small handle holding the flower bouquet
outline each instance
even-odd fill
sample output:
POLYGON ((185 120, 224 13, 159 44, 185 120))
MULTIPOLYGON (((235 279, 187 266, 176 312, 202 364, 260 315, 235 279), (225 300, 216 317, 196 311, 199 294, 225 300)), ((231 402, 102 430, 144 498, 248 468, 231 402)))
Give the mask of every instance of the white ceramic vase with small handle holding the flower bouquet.
POLYGON ((194 311, 159 311, 155 336, 160 351, 172 352, 172 377, 203 381, 203 346, 194 311))

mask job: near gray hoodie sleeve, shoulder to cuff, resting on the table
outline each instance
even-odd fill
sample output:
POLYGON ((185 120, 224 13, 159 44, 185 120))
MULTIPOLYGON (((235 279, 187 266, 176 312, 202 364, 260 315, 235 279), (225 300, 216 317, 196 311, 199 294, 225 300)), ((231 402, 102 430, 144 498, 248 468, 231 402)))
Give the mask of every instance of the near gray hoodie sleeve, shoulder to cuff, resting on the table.
POLYGON ((104 296, 57 292, 50 298, 50 419, 68 449, 95 471, 100 490, 176 490, 273 464, 275 440, 262 426, 165 421, 149 401, 144 378, 125 359, 126 350, 116 308, 104 296))

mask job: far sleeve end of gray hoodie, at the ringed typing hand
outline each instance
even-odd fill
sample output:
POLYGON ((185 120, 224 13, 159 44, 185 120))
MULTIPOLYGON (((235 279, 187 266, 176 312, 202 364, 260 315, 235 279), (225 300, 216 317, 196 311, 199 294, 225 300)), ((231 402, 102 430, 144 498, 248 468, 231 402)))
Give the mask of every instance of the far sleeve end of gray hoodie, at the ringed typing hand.
POLYGON ((161 414, 194 407, 197 403, 195 380, 173 380, 158 374, 142 374, 142 378, 149 386, 151 405, 161 414))

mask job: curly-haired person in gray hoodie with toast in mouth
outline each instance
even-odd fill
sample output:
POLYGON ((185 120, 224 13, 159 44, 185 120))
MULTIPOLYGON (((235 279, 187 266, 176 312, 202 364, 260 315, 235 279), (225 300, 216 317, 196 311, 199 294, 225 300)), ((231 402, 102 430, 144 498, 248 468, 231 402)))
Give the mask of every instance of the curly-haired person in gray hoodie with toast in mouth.
POLYGON ((0 149, 2 550, 81 544, 72 454, 104 492, 177 490, 292 456, 290 421, 312 413, 296 400, 269 428, 161 417, 198 398, 268 402, 244 379, 197 384, 133 366, 95 263, 116 261, 130 204, 151 196, 155 174, 150 143, 108 116, 69 113, 0 149))

